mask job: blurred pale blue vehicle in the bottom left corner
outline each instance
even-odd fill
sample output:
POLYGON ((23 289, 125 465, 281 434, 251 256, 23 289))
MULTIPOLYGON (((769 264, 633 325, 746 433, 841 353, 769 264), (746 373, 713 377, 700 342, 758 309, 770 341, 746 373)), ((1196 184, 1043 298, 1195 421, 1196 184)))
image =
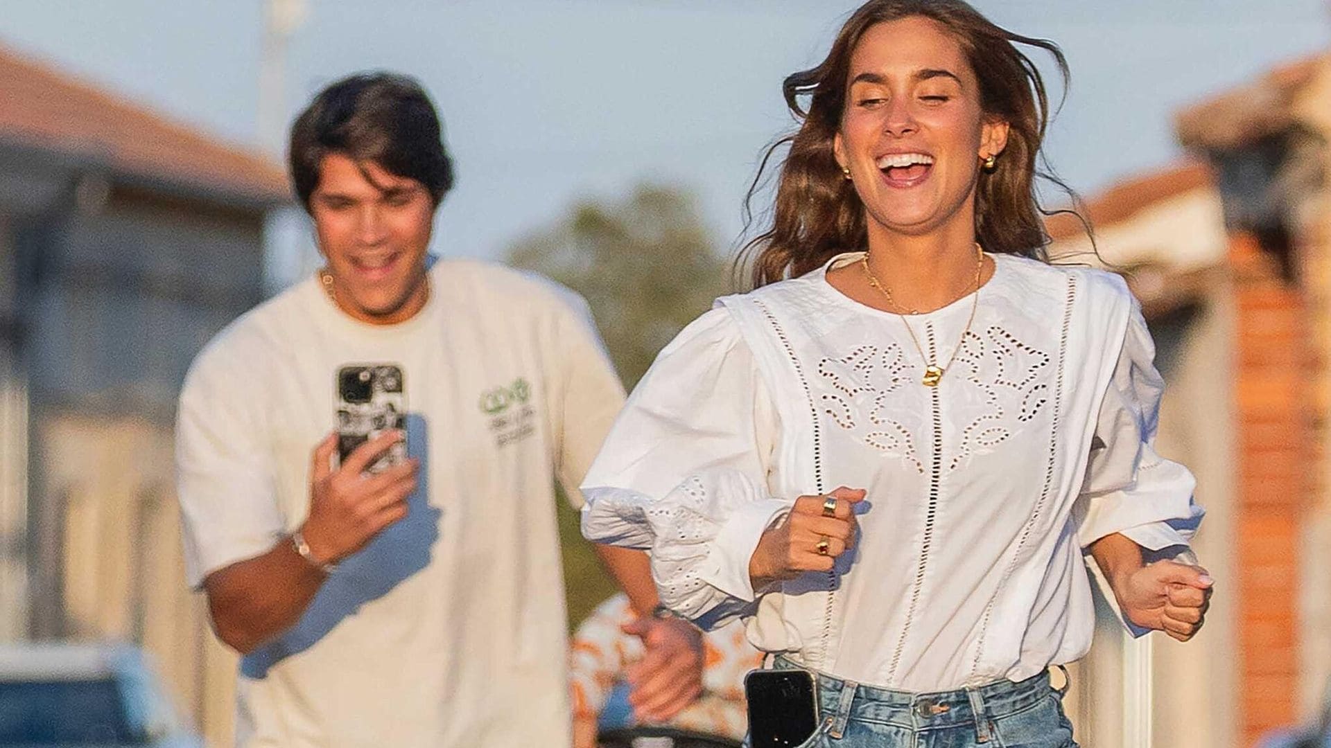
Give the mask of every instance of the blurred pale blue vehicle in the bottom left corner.
POLYGON ((146 656, 117 643, 0 644, 0 747, 202 748, 146 656))

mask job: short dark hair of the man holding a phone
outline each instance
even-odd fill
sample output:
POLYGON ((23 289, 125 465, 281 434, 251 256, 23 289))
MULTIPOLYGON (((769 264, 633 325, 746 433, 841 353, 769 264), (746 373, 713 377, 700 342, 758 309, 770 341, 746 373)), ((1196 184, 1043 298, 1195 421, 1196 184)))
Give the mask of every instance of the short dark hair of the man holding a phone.
POLYGON ((306 210, 323 157, 331 153, 417 180, 437 206, 453 188, 453 161, 439 134, 439 117, 421 84, 407 76, 345 77, 321 91, 295 118, 287 160, 306 210))

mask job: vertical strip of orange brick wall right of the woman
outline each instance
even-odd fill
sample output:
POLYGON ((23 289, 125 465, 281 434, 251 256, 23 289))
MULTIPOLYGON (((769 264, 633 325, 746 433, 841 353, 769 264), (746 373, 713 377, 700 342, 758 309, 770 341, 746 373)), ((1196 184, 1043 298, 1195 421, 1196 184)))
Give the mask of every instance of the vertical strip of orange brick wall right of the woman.
MULTIPOLYGON (((1298 527, 1314 487, 1310 318, 1256 242, 1230 250, 1238 307, 1236 665, 1244 745, 1296 720, 1298 527)), ((1225 594, 1221 590, 1219 594, 1225 594)))

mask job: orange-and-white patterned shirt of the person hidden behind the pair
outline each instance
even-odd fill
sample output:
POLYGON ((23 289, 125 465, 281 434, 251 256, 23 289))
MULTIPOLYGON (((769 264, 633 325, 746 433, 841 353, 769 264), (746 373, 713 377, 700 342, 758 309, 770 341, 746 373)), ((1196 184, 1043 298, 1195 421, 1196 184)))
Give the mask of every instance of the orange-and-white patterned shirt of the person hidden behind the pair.
MULTIPOLYGON (((643 724, 628 701, 642 679, 642 630, 647 619, 627 595, 612 595, 574 631, 568 650, 572 675, 574 748, 596 748, 604 731, 628 732, 643 724)), ((748 727, 744 675, 763 664, 763 654, 739 622, 703 635, 703 692, 681 712, 660 723, 699 736, 739 743, 748 727)))

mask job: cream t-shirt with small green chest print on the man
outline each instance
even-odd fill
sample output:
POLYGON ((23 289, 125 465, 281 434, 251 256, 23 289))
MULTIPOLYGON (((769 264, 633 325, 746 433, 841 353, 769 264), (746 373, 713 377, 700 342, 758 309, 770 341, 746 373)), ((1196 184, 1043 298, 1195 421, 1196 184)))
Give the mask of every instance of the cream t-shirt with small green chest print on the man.
POLYGON ((189 582, 301 524, 334 374, 374 362, 402 366, 419 487, 295 627, 242 660, 238 743, 566 745, 554 478, 582 503, 623 390, 586 305, 554 283, 441 261, 419 314, 373 326, 309 278, 222 330, 180 402, 189 582))

